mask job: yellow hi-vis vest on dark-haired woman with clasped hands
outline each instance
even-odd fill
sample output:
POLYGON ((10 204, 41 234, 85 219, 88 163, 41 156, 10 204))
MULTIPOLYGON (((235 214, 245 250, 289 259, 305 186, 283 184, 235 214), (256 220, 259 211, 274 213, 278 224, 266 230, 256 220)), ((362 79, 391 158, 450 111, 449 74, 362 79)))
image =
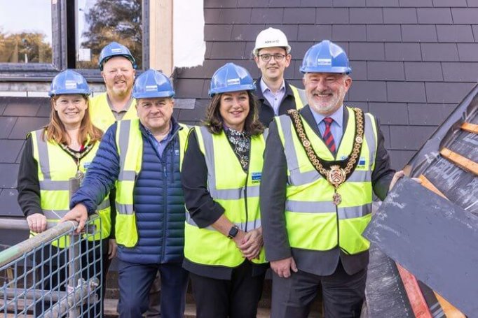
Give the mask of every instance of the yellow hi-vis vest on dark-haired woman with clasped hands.
MULTIPOLYGON (((207 166, 207 190, 225 210, 224 216, 243 231, 261 226, 259 185, 261 184, 262 154, 266 145, 263 135, 252 136, 249 170, 244 172, 224 131, 212 134, 206 127, 196 127, 200 151, 207 166)), ((200 229, 186 214, 184 257, 207 266, 236 267, 244 261, 233 240, 212 226, 200 229)), ((264 247, 254 263, 265 263, 264 247)))

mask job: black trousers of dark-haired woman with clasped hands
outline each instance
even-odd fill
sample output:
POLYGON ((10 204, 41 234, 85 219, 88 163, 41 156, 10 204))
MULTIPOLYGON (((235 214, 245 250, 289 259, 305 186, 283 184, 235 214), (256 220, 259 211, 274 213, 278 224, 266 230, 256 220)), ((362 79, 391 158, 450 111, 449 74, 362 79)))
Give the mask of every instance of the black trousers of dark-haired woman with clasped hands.
POLYGON ((261 299, 264 275, 252 277, 245 261, 233 269, 231 280, 189 274, 198 318, 255 318, 261 299))

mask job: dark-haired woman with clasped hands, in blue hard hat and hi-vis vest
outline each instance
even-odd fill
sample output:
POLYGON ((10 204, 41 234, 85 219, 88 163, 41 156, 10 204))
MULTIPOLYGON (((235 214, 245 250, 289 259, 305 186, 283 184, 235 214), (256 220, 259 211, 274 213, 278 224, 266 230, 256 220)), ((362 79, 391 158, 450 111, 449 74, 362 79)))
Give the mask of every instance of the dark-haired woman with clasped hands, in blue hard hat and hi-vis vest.
POLYGON ((259 212, 264 127, 251 75, 228 63, 211 80, 205 124, 182 166, 184 263, 198 318, 256 317, 264 275, 259 212))

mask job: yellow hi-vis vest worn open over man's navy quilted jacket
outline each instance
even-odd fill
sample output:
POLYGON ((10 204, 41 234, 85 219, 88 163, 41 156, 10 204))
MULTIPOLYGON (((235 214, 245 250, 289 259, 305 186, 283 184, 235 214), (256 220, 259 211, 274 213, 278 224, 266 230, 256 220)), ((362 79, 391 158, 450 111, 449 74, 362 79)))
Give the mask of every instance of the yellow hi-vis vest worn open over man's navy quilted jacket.
MULTIPOLYGON (((177 133, 179 135, 179 169, 181 169, 189 127, 185 124, 179 124, 179 126, 181 128, 177 133)), ((120 172, 116 180, 116 243, 125 247, 135 247, 138 231, 133 209, 133 190, 143 159, 143 138, 138 119, 118 121, 116 147, 120 157, 120 172)))

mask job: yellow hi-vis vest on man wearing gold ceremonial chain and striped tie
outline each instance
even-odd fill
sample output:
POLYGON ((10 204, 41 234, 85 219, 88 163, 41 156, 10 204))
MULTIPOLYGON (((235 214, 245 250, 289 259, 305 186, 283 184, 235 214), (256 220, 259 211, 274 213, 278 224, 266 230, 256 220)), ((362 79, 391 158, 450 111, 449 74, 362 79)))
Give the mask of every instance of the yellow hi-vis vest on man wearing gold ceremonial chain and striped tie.
MULTIPOLYGON (((348 111, 348 123, 336 157, 313 129, 303 121, 306 134, 321 159, 346 159, 355 139, 355 113, 348 111)), ((339 246, 343 252, 357 254, 369 249, 362 232, 371 218, 371 173, 374 171, 377 127, 374 117, 364 116, 364 142, 355 171, 337 192, 342 201, 334 205, 334 187, 310 164, 301 141, 287 115, 275 117, 287 160, 285 219, 289 244, 303 250, 327 251, 339 246)))

